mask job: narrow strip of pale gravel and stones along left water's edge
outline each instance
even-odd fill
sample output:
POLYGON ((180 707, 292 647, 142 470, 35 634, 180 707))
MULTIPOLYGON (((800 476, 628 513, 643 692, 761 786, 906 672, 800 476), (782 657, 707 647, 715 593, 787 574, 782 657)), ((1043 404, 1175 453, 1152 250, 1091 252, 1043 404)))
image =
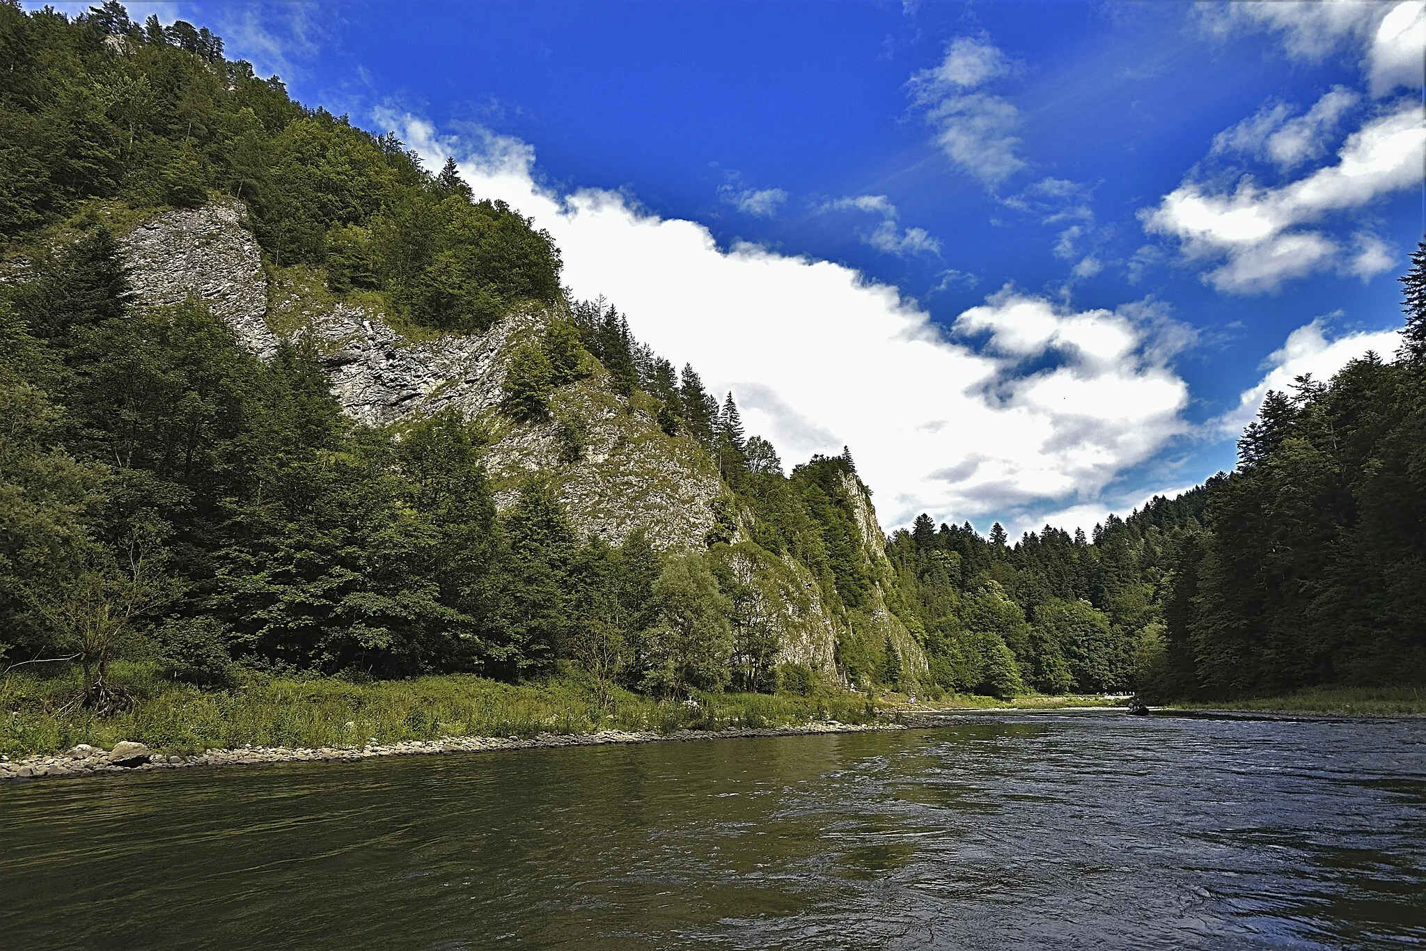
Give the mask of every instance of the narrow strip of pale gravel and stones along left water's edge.
POLYGON ((48 777, 98 776, 107 773, 141 773, 145 770, 181 770, 198 766, 242 766, 250 763, 304 763, 334 760, 369 760, 378 756, 431 756, 436 753, 485 753, 491 750, 540 750, 563 746, 605 746, 610 743, 663 743, 692 740, 730 740, 744 737, 804 736, 816 733, 871 733, 904 730, 897 723, 806 723, 794 727, 729 727, 726 730, 602 730, 599 733, 560 734, 542 733, 530 739, 519 737, 445 737, 441 740, 409 740, 405 743, 368 743, 359 747, 241 747, 235 750, 207 750, 195 756, 168 756, 141 743, 118 743, 113 750, 80 744, 67 753, 31 756, 21 760, 0 757, 0 781, 48 777))

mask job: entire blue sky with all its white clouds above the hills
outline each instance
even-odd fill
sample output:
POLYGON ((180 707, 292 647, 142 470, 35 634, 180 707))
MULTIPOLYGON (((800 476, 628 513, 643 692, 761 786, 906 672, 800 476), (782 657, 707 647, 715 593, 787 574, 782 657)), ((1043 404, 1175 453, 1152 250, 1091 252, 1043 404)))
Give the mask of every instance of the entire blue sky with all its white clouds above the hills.
POLYGON ((131 4, 453 155, 883 523, 1091 526, 1400 327, 1426 4, 131 4))

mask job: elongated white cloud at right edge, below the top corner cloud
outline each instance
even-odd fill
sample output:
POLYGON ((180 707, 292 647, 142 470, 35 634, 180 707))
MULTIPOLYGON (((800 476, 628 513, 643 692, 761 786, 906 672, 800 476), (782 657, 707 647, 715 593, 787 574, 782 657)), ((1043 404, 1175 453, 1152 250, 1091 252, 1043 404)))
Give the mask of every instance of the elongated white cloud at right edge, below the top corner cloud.
MULTIPOLYGON (((1139 220, 1145 231, 1178 238, 1189 259, 1226 258, 1205 277, 1221 291, 1273 291, 1286 279, 1329 268, 1370 277, 1390 265, 1390 255, 1359 252, 1348 261, 1339 240, 1303 225, 1419 185, 1423 160, 1420 106, 1403 98, 1349 135, 1335 165, 1278 188, 1263 188, 1251 175, 1231 192, 1185 181, 1156 208, 1142 210, 1139 220), (1382 267, 1369 271, 1372 264, 1382 267)), ((1362 240, 1358 244, 1365 250, 1362 240)))

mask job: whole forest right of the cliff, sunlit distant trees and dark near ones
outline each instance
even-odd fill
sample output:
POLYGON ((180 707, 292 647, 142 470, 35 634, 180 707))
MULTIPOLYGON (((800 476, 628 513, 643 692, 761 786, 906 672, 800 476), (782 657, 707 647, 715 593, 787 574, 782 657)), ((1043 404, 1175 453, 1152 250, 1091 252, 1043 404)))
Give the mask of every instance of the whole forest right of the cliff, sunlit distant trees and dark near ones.
POLYGON ((1402 281, 1396 359, 1269 392, 1232 473, 1092 538, 897 532, 933 680, 1161 700, 1426 683, 1426 242, 1402 281))

